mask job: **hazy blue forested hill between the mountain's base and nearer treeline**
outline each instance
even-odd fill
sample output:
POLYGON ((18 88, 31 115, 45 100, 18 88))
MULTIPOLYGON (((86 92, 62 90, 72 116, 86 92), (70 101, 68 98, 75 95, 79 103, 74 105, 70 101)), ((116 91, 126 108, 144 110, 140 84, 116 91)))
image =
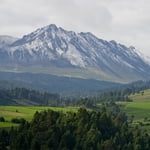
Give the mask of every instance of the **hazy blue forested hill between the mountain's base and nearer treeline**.
POLYGON ((26 87, 59 93, 63 97, 92 96, 122 86, 114 82, 33 73, 0 72, 0 79, 3 80, 0 88, 26 87))

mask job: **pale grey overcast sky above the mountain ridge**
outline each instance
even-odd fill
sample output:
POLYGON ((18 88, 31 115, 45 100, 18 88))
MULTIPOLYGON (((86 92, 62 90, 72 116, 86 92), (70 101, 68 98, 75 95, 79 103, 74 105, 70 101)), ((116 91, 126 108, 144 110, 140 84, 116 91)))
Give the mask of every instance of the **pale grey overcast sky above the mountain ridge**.
POLYGON ((133 45, 150 56, 150 0, 0 0, 0 35, 56 24, 133 45))

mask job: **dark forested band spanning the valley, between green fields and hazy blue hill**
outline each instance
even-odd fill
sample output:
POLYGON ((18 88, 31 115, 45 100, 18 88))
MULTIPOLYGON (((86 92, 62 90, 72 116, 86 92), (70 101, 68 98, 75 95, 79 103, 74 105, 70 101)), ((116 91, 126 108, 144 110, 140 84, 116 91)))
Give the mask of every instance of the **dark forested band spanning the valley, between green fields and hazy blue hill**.
MULTIPOLYGON (((11 85, 9 82, 2 82, 4 85, 11 85)), ((1 85, 1 84, 0 84, 1 85)), ((13 85, 12 85, 13 87, 13 85)), ((99 92, 95 96, 87 95, 85 97, 62 97, 56 93, 41 92, 27 88, 12 88, 8 86, 5 89, 0 88, 0 105, 43 105, 43 106, 74 106, 84 105, 94 107, 101 102, 132 101, 129 95, 141 92, 150 88, 150 82, 138 81, 132 84, 124 85, 114 90, 99 92)))

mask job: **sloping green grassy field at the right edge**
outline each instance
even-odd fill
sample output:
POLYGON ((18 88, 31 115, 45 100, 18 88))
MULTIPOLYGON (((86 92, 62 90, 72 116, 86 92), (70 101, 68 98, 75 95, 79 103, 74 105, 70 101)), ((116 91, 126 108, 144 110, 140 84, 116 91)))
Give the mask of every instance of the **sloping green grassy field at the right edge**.
POLYGON ((134 117, 134 124, 142 123, 142 128, 150 131, 150 90, 131 95, 133 102, 119 102, 128 118, 134 117))

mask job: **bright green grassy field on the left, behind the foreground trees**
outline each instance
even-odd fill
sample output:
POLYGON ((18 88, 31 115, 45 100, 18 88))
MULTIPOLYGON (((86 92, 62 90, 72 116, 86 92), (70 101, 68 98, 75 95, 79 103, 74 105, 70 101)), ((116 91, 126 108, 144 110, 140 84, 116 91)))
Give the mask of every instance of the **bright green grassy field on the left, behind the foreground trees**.
POLYGON ((48 109, 62 112, 69 112, 69 111, 76 112, 78 107, 59 108, 59 107, 42 107, 42 106, 39 107, 0 106, 0 117, 4 117, 6 120, 6 122, 0 122, 0 128, 17 126, 18 124, 11 123, 12 118, 24 118, 27 121, 31 121, 36 111, 40 112, 48 109))

